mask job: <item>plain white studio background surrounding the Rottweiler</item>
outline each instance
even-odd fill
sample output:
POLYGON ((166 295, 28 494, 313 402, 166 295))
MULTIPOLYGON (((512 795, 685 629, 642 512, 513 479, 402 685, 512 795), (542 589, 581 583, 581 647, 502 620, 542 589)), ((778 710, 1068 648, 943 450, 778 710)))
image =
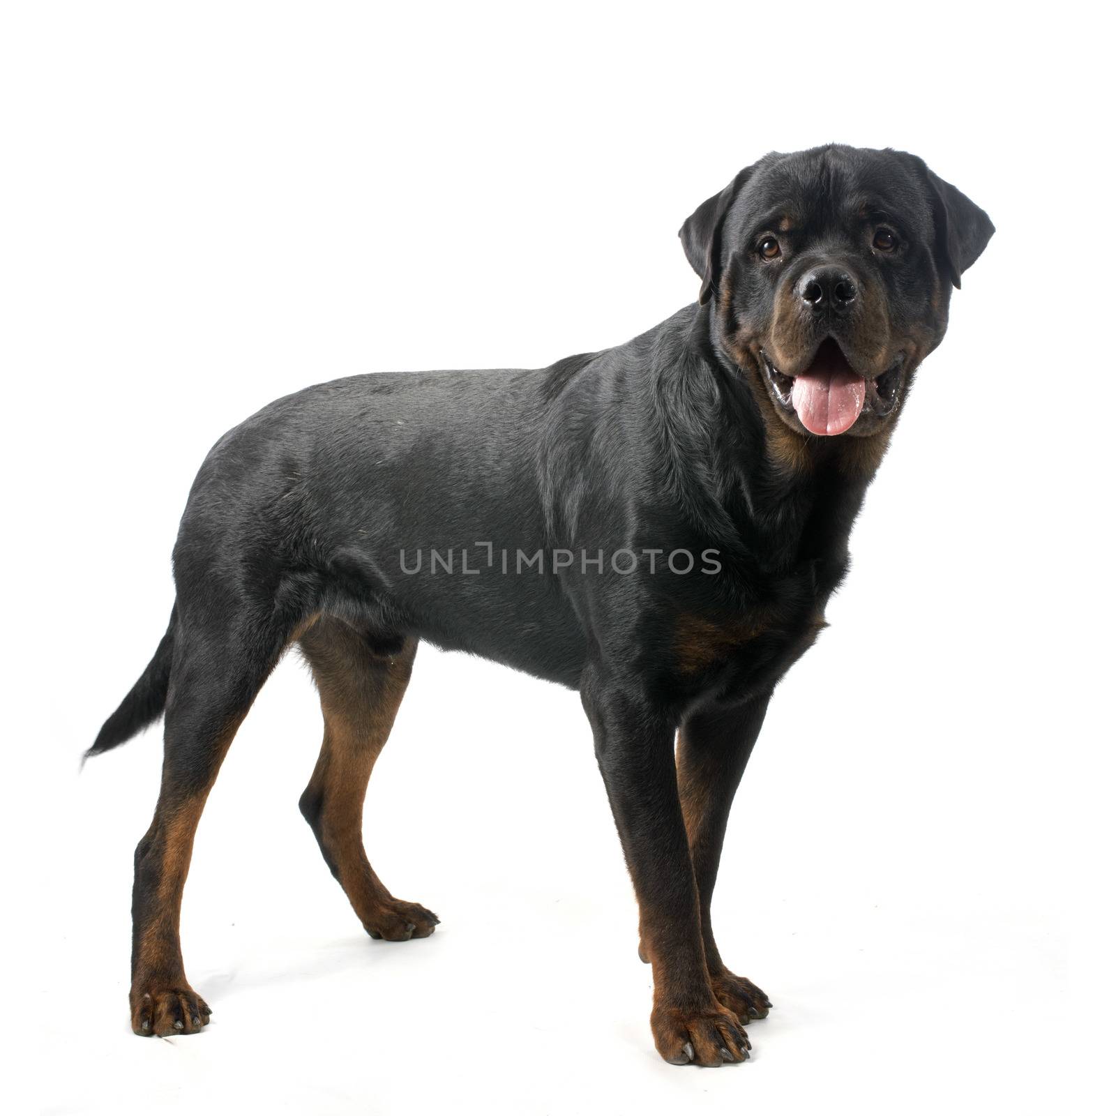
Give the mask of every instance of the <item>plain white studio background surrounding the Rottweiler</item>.
POLYGON ((1075 4, 405 7, 3 6, 11 1110, 1110 1110, 1085 1013, 1112 1002, 1100 28, 1075 4), (209 446, 308 383, 624 341, 695 297, 699 202, 831 140, 921 154, 999 231, 737 800, 715 918, 777 1006, 753 1059, 654 1052, 576 694, 429 647, 366 838, 437 933, 372 942, 320 862, 289 660, 186 888, 213 1022, 133 1037, 160 737, 78 757, 165 627, 209 446))

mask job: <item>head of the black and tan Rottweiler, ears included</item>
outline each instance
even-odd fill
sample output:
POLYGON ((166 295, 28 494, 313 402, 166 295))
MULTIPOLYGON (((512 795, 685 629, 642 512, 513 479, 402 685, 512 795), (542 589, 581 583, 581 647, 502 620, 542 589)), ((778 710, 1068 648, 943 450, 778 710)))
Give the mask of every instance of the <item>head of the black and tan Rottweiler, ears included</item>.
POLYGON ((767 421, 809 437, 894 422, 992 232, 921 158, 828 146, 764 156, 680 235, 767 421))

